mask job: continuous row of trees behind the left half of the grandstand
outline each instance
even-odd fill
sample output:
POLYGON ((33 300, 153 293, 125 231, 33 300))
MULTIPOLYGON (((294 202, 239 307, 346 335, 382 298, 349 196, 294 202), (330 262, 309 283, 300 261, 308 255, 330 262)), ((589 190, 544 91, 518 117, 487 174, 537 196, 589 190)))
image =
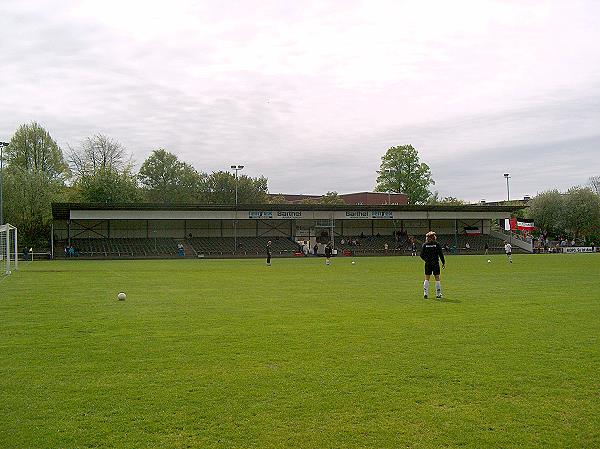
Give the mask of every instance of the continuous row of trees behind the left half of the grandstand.
POLYGON ((20 126, 4 148, 4 221, 19 228, 25 241, 48 240, 52 202, 240 204, 277 201, 267 178, 210 174, 158 149, 136 173, 131 154, 102 134, 63 152, 38 123, 20 126))

